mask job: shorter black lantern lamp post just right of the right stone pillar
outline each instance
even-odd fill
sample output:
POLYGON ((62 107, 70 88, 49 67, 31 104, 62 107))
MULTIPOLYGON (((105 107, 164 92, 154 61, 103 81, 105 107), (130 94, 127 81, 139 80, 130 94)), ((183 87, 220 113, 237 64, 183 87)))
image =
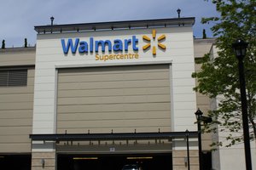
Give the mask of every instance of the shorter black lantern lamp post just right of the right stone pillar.
POLYGON ((198 132, 198 156, 199 156, 199 169, 203 170, 202 166, 202 151, 201 151, 201 122, 209 123, 212 122, 211 117, 202 116, 203 112, 198 109, 195 111, 195 116, 197 120, 197 132, 198 132))

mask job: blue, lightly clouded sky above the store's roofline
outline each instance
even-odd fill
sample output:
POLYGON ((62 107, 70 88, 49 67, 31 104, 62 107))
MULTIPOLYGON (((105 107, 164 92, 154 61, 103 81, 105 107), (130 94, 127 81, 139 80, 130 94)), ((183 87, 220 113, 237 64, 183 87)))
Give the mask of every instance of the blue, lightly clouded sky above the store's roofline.
POLYGON ((217 16, 214 4, 205 0, 0 0, 0 43, 7 48, 22 47, 27 38, 34 46, 34 26, 78 24, 124 20, 154 20, 195 17, 194 36, 212 37, 211 24, 202 25, 202 17, 217 16))

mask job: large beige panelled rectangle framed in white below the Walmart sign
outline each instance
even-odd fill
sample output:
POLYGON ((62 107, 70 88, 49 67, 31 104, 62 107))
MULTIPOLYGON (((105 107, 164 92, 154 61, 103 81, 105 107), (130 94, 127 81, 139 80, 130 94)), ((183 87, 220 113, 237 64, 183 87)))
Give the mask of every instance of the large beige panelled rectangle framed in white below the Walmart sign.
POLYGON ((57 133, 171 131, 169 65, 60 69, 57 133))

